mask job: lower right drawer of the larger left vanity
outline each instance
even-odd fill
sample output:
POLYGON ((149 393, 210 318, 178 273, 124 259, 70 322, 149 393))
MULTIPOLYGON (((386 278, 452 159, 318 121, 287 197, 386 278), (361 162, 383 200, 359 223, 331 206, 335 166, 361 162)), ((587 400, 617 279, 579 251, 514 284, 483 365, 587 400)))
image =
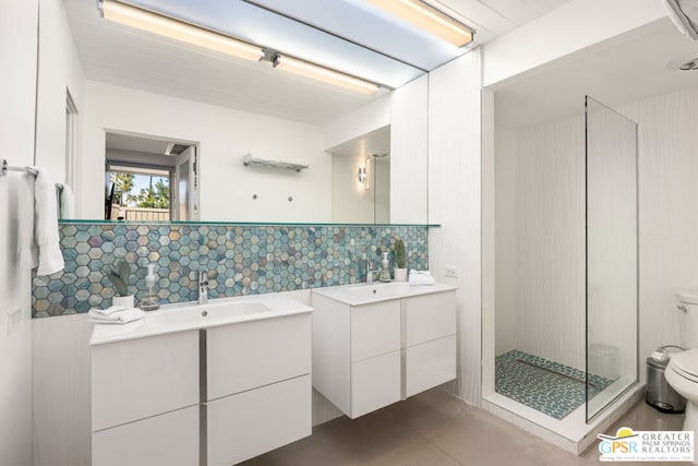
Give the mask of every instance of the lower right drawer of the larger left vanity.
POLYGON ((311 377, 206 403, 208 466, 229 466, 312 433, 311 377))

